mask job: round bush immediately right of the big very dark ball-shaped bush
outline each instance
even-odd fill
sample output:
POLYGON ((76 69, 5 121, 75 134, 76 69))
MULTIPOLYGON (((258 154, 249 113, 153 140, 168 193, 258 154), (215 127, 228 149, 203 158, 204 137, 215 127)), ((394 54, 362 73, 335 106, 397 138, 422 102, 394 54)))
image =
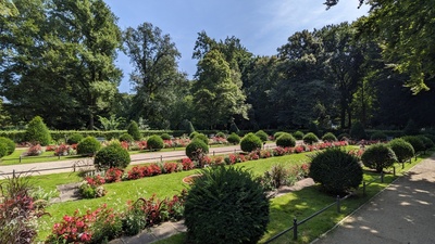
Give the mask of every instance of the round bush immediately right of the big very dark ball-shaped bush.
POLYGON ((382 172, 384 168, 393 166, 397 160, 394 151, 386 144, 377 143, 369 146, 361 156, 362 164, 365 167, 382 172))

